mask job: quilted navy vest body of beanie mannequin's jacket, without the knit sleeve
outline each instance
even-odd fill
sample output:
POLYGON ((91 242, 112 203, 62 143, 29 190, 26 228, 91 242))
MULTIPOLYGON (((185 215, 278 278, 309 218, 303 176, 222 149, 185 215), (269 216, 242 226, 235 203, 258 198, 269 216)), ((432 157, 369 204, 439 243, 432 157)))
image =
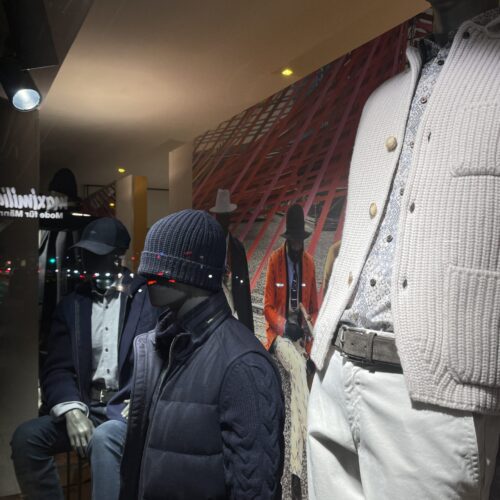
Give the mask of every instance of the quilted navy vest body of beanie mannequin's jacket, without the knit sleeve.
POLYGON ((222 293, 186 326, 190 333, 175 337, 170 355, 165 347, 159 355, 154 332, 136 341, 121 500, 227 498, 219 391, 238 358, 249 352, 269 355, 232 318, 222 293))

